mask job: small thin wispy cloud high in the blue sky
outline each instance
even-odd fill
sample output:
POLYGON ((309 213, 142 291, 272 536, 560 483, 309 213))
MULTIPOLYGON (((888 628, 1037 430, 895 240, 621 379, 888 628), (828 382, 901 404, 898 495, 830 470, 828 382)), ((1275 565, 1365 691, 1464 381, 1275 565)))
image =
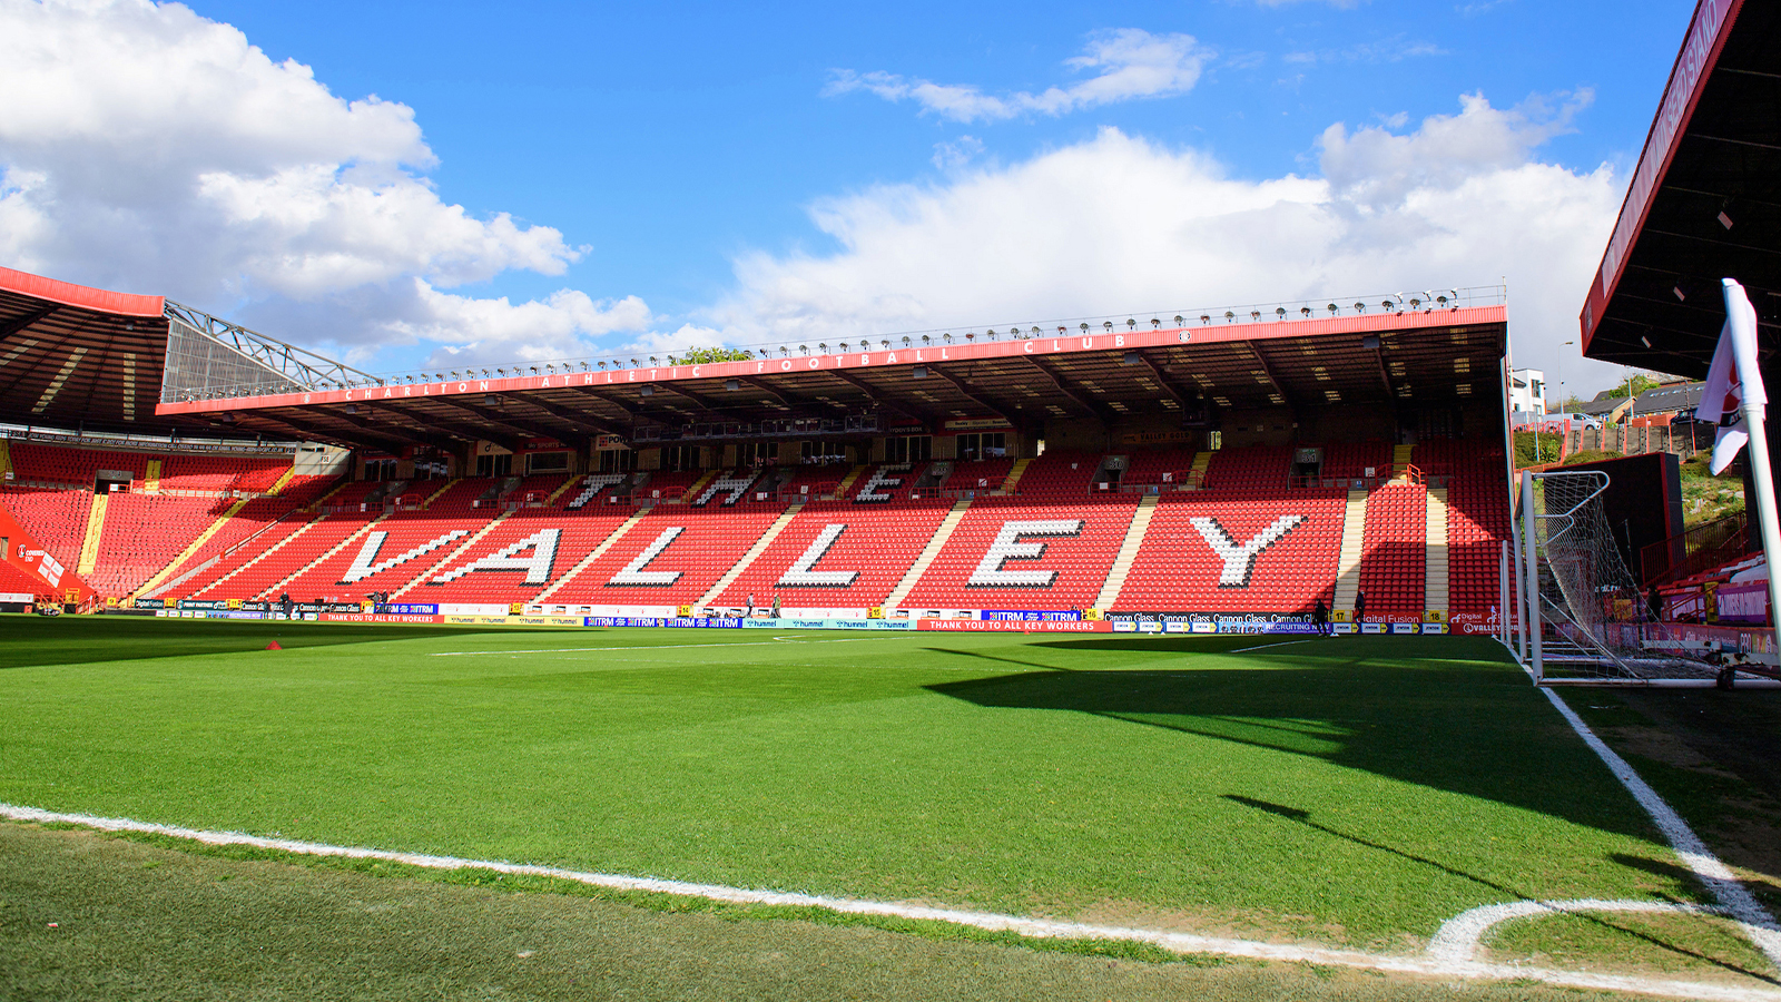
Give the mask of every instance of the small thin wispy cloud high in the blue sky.
POLYGON ((1015 91, 987 94, 974 84, 935 84, 896 73, 837 70, 826 94, 867 91, 889 102, 914 100, 926 112, 955 121, 992 121, 1022 114, 1060 116, 1136 98, 1168 98, 1193 89, 1211 52, 1184 34, 1154 36, 1118 29, 1088 36, 1081 55, 1065 66, 1094 77, 1037 94, 1015 91))

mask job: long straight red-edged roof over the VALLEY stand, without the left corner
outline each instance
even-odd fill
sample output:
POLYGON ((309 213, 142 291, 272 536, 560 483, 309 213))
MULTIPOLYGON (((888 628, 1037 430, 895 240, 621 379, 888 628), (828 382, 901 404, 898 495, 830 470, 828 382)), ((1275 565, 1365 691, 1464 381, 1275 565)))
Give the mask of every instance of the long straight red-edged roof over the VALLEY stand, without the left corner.
POLYGON ((470 440, 516 449, 531 439, 591 435, 650 442, 686 433, 883 435, 1001 424, 1040 431, 1047 421, 1074 417, 1186 426, 1241 408, 1398 407, 1501 394, 1507 317, 1498 291, 1487 305, 1297 312, 1256 323, 1209 314, 1179 319, 1181 326, 1133 319, 1019 339, 1004 332, 996 341, 985 332, 930 346, 915 339, 908 348, 901 339, 890 348, 880 341, 873 351, 787 349, 702 365, 476 369, 454 378, 176 399, 157 412, 386 451, 452 451, 470 440), (876 423, 858 423, 867 414, 876 423), (809 423, 825 417, 828 426, 809 423), (807 423, 764 424, 794 419, 807 423))

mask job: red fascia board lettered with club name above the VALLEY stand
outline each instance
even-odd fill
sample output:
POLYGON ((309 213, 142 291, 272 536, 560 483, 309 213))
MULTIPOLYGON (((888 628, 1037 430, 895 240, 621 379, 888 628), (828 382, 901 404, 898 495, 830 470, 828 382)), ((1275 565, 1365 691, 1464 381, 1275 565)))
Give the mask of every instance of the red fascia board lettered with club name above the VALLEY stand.
POLYGON ((265 407, 303 407, 317 403, 358 403, 379 399, 415 399, 429 396, 459 396, 488 392, 522 392, 573 387, 623 387, 638 383, 671 383, 677 380, 728 380, 739 376, 771 376, 782 373, 910 369, 914 365, 956 364, 1013 355, 1056 357, 1085 351, 1136 351, 1172 344, 1220 344, 1234 341, 1282 341, 1293 337, 1339 337, 1355 333, 1396 333, 1441 326, 1500 324, 1509 321, 1507 307, 1466 307, 1425 310, 1414 314, 1371 314, 1348 317, 1181 326, 1163 330, 1094 332, 1028 341, 994 341, 980 344, 947 344, 931 348, 896 348, 890 351, 850 351, 846 355, 798 355, 791 358, 760 358, 750 362, 712 362, 709 365, 657 365, 652 369, 611 369, 588 373, 557 373, 554 376, 515 376, 506 380, 452 380, 443 383, 401 383, 386 387, 354 387, 347 390, 315 390, 233 399, 198 399, 162 403, 155 414, 219 414, 228 410, 258 410, 265 407))

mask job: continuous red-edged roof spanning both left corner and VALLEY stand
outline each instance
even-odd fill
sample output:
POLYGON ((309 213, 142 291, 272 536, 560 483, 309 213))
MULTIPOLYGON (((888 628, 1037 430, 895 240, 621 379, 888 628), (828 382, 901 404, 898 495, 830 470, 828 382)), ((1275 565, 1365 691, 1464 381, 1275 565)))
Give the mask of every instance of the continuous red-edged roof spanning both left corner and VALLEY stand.
POLYGON ((595 435, 652 444, 1042 433, 1058 419, 1204 426, 1250 408, 1396 408, 1500 394, 1507 316, 1498 287, 1293 307, 896 335, 869 351, 782 348, 705 365, 554 362, 370 376, 160 296, 0 269, 0 423, 390 453, 488 440, 520 451, 538 439, 595 435), (1245 316, 1250 323, 1238 323, 1245 316))

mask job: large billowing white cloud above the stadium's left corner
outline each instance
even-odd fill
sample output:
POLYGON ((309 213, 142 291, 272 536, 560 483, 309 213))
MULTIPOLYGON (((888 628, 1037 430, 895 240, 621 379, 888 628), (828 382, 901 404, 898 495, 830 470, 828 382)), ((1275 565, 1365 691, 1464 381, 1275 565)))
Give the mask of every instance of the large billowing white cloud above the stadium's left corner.
POLYGON ((0 0, 0 255, 14 267, 326 314, 326 341, 354 355, 388 337, 531 351, 550 335, 522 330, 648 317, 581 292, 440 300, 508 269, 561 275, 581 250, 443 201, 413 109, 342 100, 230 25, 146 0, 0 0))

